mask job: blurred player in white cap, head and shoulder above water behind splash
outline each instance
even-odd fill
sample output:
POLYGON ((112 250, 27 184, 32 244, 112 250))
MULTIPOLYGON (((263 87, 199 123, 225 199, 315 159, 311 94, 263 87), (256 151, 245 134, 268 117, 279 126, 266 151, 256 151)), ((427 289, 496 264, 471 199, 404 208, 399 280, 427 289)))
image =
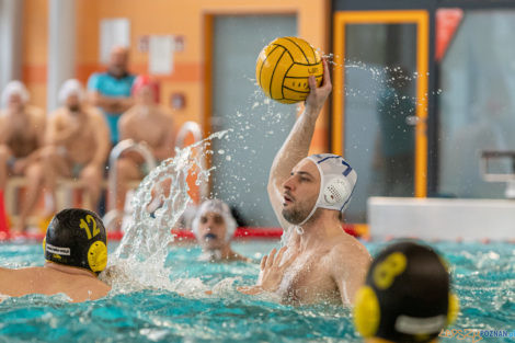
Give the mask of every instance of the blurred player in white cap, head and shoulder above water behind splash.
POLYGON ((226 203, 220 199, 202 203, 192 222, 193 233, 203 251, 201 260, 248 261, 231 249, 236 228, 237 222, 226 203))

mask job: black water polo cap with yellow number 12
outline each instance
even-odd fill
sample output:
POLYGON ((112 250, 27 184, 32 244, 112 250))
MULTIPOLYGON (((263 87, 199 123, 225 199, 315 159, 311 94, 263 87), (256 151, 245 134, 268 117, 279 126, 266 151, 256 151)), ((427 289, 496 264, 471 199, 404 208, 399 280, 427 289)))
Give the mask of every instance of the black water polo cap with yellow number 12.
POLYGON ((93 211, 67 208, 52 219, 43 241, 45 259, 55 263, 102 272, 107 264, 107 235, 93 211))

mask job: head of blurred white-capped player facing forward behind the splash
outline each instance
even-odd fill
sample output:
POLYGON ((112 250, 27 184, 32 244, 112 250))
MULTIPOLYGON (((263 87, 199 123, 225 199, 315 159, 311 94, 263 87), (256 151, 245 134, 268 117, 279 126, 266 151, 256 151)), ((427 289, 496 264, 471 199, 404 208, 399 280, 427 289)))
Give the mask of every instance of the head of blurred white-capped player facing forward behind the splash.
POLYGON ((220 199, 205 201, 192 222, 193 233, 204 251, 229 247, 237 228, 229 206, 220 199))

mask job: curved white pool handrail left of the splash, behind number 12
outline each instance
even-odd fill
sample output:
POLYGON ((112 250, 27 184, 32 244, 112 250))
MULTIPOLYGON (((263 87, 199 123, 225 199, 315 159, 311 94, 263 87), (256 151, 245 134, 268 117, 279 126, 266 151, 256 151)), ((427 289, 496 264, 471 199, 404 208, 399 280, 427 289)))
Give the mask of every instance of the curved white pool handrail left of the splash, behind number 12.
MULTIPOLYGON (((111 153, 110 153, 110 162, 108 162, 110 175, 108 175, 108 181, 107 181, 108 196, 111 196, 112 204, 114 204, 115 206, 116 206, 116 201, 117 201, 117 188, 118 188, 118 182, 117 182, 118 169, 116 168, 116 161, 125 151, 135 151, 141 155, 149 170, 152 170, 157 167, 156 158, 152 156, 152 152, 147 147, 147 145, 141 144, 141 142, 135 142, 133 139, 125 139, 118 142, 111 150, 111 153)), ((103 218, 104 226, 108 228, 111 225, 111 221, 119 218, 123 215, 124 213, 116 208, 107 211, 103 218)))

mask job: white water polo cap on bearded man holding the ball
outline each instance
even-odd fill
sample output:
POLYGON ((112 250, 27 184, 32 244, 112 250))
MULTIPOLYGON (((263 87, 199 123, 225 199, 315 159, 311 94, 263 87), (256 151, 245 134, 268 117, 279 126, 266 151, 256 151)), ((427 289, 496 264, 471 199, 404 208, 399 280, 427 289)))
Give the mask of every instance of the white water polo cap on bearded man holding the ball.
POLYGON ((320 193, 313 209, 300 225, 308 221, 317 208, 343 213, 351 202, 357 181, 356 171, 339 155, 318 153, 308 159, 314 162, 320 173, 320 193))

